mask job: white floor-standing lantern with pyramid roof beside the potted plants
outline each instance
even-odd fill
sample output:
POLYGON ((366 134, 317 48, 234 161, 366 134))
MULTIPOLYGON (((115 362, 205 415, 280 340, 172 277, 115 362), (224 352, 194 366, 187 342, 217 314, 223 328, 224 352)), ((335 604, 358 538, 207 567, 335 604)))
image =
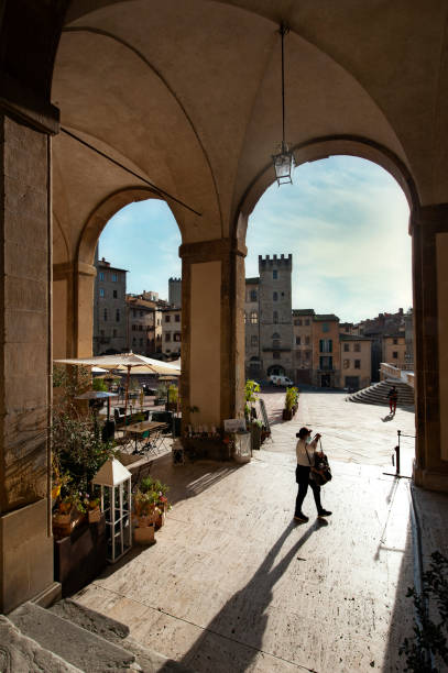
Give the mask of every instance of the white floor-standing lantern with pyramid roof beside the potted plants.
POLYGON ((131 473, 117 459, 110 459, 91 479, 101 487, 101 511, 106 518, 108 561, 116 563, 132 547, 131 473))

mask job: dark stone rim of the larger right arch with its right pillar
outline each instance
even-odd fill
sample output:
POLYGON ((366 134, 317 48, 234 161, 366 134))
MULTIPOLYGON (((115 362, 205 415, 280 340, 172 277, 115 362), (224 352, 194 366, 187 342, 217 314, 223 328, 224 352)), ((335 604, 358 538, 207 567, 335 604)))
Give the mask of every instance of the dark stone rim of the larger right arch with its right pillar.
MULTIPOLYGON (((318 137, 297 145, 296 161, 301 165, 331 155, 350 155, 367 158, 383 167, 395 178, 409 205, 409 235, 413 238, 413 295, 414 295, 414 343, 415 343, 415 396, 416 396, 416 460, 414 478, 418 485, 442 488, 448 481, 448 422, 441 409, 448 407, 448 367, 442 372, 444 361, 439 353, 448 339, 446 309, 437 287, 445 273, 447 208, 422 207, 417 187, 405 163, 391 152, 368 139, 356 136, 318 137), (435 229, 433 229, 435 227, 435 229), (433 263, 429 262, 433 260, 433 263), (437 260, 439 265, 434 264, 437 260), (429 289, 430 288, 430 289, 429 289), (437 324, 438 329, 428 329, 437 324), (444 331, 444 333, 441 333, 444 331)), ((266 165, 254 177, 240 203, 234 219, 237 236, 245 239, 248 219, 260 196, 273 181, 272 169, 266 165)), ((447 278, 448 282, 448 278, 447 278)), ((323 386, 330 386, 327 377, 323 386)))

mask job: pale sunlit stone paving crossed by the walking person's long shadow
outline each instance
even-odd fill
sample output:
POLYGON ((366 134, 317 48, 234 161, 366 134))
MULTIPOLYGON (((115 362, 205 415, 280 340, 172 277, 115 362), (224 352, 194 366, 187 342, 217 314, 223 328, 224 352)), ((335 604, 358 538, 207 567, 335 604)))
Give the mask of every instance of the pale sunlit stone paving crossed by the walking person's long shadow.
MULTIPOLYGON (((273 441, 247 465, 198 462, 152 474, 173 509, 151 548, 135 548, 75 598, 130 626, 141 643, 200 673, 400 671, 413 583, 408 481, 383 475, 396 430, 414 415, 304 393, 281 422, 284 394, 266 393, 273 441), (293 521, 295 432, 323 433, 334 511, 293 521)), ((411 466, 412 440, 406 444, 411 466)))

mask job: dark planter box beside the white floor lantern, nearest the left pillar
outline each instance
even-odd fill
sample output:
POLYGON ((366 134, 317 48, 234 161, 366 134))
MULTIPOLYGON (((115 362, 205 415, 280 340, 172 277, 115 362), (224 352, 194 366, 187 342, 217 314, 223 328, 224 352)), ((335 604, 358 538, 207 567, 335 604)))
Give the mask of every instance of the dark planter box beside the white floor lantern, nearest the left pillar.
POLYGON ((63 596, 81 589, 107 565, 105 515, 98 523, 85 523, 62 540, 54 540, 54 578, 63 596))

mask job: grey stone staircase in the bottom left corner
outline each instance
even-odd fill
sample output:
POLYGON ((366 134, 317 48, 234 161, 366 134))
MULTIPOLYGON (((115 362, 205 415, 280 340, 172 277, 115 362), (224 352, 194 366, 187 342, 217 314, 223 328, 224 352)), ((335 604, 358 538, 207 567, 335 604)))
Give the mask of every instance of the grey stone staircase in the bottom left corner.
POLYGON ((0 670, 8 673, 189 671, 133 640, 125 625, 69 598, 50 609, 24 603, 8 617, 0 615, 0 670))

